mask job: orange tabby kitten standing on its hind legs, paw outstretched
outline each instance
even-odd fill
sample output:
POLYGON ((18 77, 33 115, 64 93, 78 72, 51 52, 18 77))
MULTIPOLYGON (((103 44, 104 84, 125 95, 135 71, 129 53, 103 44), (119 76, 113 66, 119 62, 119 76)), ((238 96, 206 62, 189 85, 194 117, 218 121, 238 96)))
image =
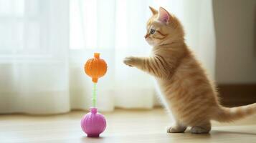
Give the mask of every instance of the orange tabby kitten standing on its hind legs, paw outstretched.
POLYGON ((145 36, 153 46, 149 57, 126 57, 124 63, 156 77, 156 81, 174 115, 175 124, 167 132, 208 133, 210 120, 232 122, 256 113, 256 103, 227 108, 219 103, 214 84, 184 42, 179 20, 162 7, 151 8, 145 36))

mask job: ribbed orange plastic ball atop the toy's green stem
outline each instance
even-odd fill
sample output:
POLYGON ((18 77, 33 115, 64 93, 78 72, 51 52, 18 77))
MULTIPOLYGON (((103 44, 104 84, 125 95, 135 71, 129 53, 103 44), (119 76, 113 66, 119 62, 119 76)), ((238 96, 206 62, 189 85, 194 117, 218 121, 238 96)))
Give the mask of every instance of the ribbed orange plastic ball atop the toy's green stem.
POLYGON ((100 59, 100 53, 94 53, 94 58, 88 59, 85 63, 85 74, 92 77, 94 83, 98 82, 107 72, 107 64, 104 59, 100 59))

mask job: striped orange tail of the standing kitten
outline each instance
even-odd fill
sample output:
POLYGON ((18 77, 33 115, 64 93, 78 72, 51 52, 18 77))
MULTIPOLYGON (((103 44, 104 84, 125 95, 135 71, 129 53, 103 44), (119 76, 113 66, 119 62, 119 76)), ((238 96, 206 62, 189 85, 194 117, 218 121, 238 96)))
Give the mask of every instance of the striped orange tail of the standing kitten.
POLYGON ((213 119, 218 122, 232 122, 252 114, 256 114, 256 103, 232 108, 219 106, 213 119))

